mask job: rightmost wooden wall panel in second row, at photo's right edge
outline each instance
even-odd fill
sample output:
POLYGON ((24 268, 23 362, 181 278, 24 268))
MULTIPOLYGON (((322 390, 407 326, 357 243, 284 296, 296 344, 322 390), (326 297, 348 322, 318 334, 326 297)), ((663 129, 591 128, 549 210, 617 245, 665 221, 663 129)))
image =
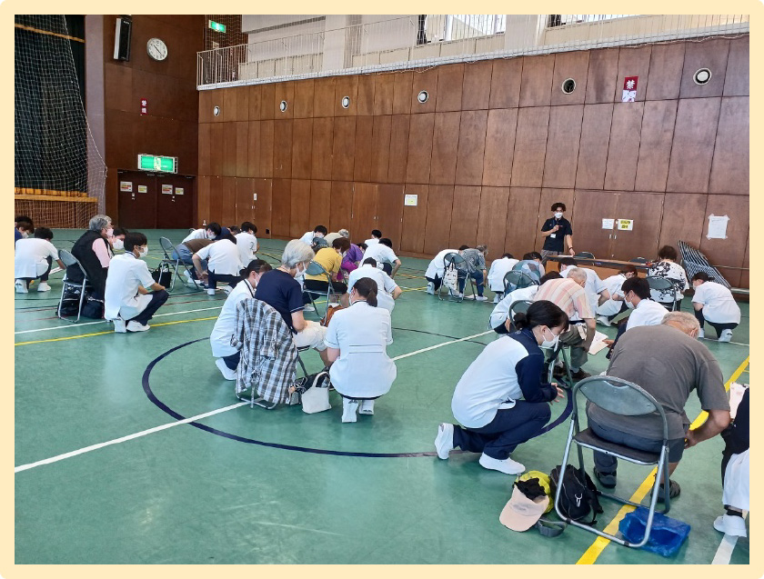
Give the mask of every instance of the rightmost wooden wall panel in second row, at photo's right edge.
POLYGON ((709 193, 749 195, 749 97, 721 99, 709 193))

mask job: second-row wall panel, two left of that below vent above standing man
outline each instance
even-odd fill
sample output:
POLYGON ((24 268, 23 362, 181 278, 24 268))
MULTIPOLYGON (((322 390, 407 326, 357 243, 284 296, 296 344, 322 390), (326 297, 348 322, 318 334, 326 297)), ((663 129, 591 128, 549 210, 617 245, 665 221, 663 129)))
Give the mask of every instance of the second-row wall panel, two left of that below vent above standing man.
POLYGON ((483 155, 483 185, 509 185, 512 177, 517 127, 518 109, 499 108, 488 111, 486 150, 483 155))

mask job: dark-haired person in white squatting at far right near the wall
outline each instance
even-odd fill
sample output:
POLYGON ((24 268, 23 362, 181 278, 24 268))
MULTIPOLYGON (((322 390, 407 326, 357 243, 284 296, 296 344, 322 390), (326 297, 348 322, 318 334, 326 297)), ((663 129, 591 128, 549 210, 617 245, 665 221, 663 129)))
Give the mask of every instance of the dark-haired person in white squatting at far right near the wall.
POLYGON ((699 337, 705 337, 703 325, 708 322, 716 330, 719 342, 732 340, 732 330, 740 323, 740 308, 732 292, 724 285, 712 281, 706 272, 692 276, 692 306, 700 324, 699 337))

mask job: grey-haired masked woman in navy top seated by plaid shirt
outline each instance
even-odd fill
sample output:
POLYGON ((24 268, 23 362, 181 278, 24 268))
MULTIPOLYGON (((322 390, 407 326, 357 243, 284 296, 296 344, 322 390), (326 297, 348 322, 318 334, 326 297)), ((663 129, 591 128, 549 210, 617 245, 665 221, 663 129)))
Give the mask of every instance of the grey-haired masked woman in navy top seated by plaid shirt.
POLYGON ((310 245, 299 239, 290 241, 281 255, 281 265, 266 272, 257 282, 255 297, 281 314, 298 348, 307 346, 315 349, 324 364, 329 366, 331 363, 327 358, 327 345, 324 344, 327 328, 305 319, 302 288, 295 279, 296 276, 305 275, 307 265, 315 255, 310 245))

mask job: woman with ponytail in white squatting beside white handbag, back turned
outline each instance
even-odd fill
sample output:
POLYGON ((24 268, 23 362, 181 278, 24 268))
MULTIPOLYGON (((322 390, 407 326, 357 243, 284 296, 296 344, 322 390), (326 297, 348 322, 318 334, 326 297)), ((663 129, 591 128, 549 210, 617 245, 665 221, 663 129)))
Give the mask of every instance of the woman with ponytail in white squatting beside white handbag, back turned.
POLYGON ((393 343, 390 313, 377 307, 377 289, 370 277, 358 279, 350 305, 332 316, 324 339, 329 362, 334 362, 332 385, 342 396, 342 422, 356 422, 357 412, 374 414, 374 401, 396 379, 396 364, 387 356, 387 345, 393 343))

